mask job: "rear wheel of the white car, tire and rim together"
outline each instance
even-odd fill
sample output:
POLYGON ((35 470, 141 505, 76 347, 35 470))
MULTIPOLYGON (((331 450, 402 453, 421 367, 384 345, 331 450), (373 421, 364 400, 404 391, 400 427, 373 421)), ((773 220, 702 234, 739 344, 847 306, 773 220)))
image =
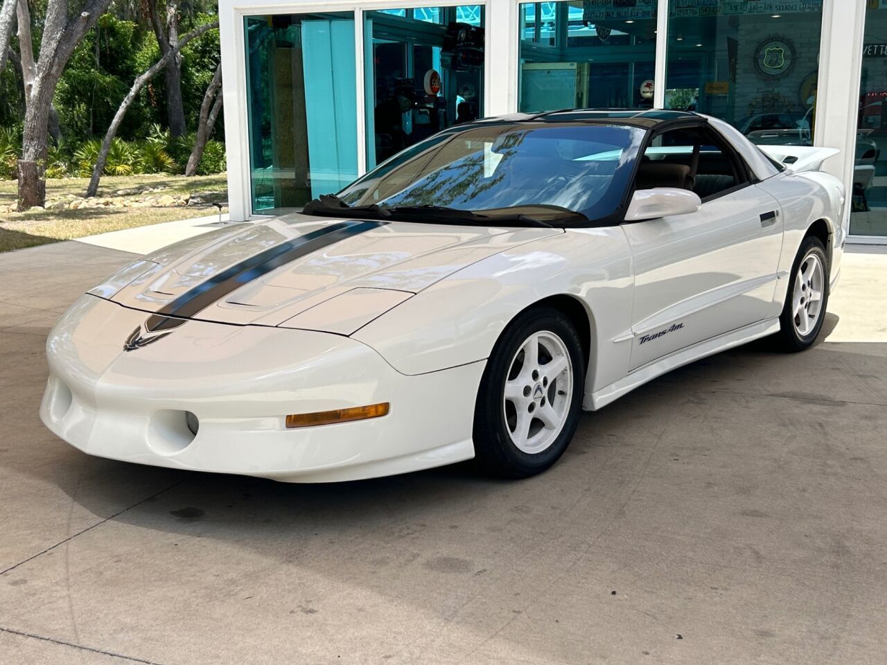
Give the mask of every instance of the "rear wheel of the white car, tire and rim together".
POLYGON ((828 306, 828 259, 820 239, 807 236, 801 243, 790 280, 779 339, 784 350, 803 351, 819 336, 828 306))

